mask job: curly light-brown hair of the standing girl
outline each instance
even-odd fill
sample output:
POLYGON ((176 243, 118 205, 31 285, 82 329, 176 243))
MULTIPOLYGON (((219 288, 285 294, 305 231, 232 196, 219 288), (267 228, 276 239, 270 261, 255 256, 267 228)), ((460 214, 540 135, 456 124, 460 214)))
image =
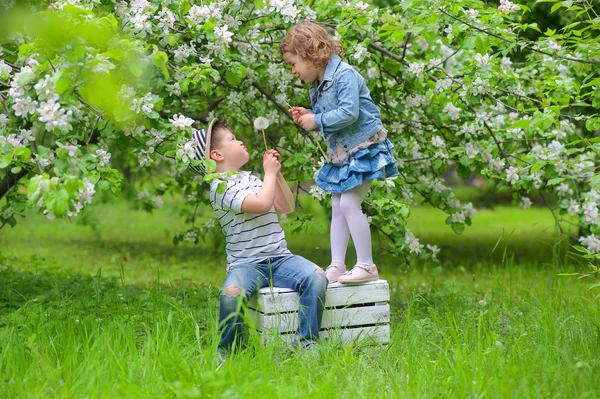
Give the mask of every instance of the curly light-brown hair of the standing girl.
POLYGON ((316 67, 324 67, 332 54, 344 56, 342 44, 321 25, 303 22, 288 31, 279 43, 279 53, 300 56, 316 67))

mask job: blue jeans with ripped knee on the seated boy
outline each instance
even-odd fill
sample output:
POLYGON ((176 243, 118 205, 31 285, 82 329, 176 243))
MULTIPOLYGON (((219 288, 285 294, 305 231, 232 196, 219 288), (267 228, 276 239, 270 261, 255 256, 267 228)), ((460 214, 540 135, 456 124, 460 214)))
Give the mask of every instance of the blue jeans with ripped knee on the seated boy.
POLYGON ((261 263, 236 265, 227 269, 227 278, 220 291, 219 348, 229 350, 236 340, 243 338, 244 321, 240 312, 242 299, 252 298, 256 292, 271 284, 291 288, 300 294, 297 340, 314 342, 319 338, 323 306, 327 293, 327 277, 318 266, 301 256, 269 258, 261 263))

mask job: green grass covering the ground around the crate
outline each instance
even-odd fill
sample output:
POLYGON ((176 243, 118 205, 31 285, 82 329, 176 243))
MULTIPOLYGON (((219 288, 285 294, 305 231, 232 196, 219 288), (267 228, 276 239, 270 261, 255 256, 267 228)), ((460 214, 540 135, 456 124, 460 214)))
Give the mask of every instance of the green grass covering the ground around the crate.
MULTIPOLYGON (((600 394, 597 292, 557 276, 576 266, 553 258, 547 210, 481 211, 456 236, 437 211, 414 209, 411 230, 445 254, 403 272, 376 251, 391 288, 389 345, 325 342, 313 356, 250 337, 216 370, 225 256, 218 243, 172 244, 185 227, 178 207, 148 215, 115 202, 90 209, 95 230, 32 215, 0 231, 1 397, 600 394)), ((327 238, 288 241, 327 261, 327 238)))

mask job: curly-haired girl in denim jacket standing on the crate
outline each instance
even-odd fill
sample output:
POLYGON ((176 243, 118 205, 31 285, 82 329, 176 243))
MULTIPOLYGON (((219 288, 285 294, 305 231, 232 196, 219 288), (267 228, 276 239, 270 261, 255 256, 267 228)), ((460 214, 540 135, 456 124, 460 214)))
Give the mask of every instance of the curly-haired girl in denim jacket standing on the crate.
POLYGON ((318 129, 327 142, 329 162, 316 183, 333 194, 329 283, 362 283, 379 278, 373 263, 371 231, 361 203, 373 179, 398 175, 379 109, 363 77, 341 57, 341 44, 320 25, 294 26, 279 44, 292 73, 310 85, 312 109, 290 109, 305 130, 318 129), (346 247, 352 236, 357 263, 346 271, 346 247))

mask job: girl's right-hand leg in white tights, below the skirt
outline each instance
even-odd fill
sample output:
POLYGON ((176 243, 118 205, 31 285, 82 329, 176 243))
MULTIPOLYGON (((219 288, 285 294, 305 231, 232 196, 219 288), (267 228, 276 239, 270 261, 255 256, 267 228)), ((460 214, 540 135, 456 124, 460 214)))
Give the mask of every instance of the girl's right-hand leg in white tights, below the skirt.
POLYGON ((341 195, 339 204, 356 248, 356 263, 364 266, 373 266, 373 250, 371 229, 360 204, 369 193, 371 183, 372 180, 366 180, 362 185, 346 191, 341 195))

